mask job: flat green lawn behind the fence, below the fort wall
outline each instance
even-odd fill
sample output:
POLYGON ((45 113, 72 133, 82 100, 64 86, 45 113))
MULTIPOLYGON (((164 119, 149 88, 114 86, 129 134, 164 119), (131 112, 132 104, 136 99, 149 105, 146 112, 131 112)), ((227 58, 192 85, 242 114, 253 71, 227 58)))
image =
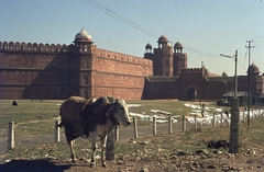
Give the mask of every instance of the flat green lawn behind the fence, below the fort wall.
MULTIPOLYGON (((14 122, 20 129, 16 130, 18 137, 25 135, 43 135, 54 133, 54 121, 59 117, 59 106, 63 101, 16 101, 18 106, 12 106, 12 100, 0 101, 0 136, 7 135, 9 122, 14 122)), ((172 113, 172 115, 185 115, 190 112, 189 107, 182 101, 127 101, 128 104, 141 104, 129 108, 131 113, 154 115, 151 110, 160 110, 172 113)), ((141 124, 141 122, 139 122, 141 124)), ((143 124, 143 123, 142 123, 143 124)))

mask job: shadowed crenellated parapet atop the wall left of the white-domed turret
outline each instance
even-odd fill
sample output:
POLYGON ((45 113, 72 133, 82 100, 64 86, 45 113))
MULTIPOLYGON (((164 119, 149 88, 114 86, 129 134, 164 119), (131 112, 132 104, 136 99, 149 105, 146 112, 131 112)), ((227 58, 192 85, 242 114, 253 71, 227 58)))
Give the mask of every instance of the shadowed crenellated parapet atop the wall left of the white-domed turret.
POLYGON ((0 42, 0 50, 12 50, 12 51, 45 51, 45 53, 57 53, 57 51, 69 51, 67 45, 63 44, 36 44, 36 43, 19 43, 19 42, 0 42))

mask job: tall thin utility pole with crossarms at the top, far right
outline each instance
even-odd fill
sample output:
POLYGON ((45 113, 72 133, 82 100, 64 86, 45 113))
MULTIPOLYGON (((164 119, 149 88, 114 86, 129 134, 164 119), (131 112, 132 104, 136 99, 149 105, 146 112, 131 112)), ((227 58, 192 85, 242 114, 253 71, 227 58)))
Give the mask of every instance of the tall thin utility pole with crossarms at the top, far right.
POLYGON ((250 65, 251 65, 251 48, 254 48, 254 46, 251 45, 253 41, 246 41, 249 43, 249 46, 245 46, 245 48, 249 48, 249 68, 248 68, 248 127, 250 126, 250 105, 251 105, 251 72, 250 72, 250 65))

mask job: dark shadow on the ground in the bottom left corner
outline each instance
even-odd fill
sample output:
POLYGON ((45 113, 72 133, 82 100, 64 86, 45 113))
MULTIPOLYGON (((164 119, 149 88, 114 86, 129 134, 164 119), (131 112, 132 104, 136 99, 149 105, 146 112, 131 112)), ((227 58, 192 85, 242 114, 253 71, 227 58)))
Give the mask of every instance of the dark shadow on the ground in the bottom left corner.
POLYGON ((0 171, 7 172, 63 172, 69 164, 55 164, 48 160, 12 160, 0 164, 0 171))

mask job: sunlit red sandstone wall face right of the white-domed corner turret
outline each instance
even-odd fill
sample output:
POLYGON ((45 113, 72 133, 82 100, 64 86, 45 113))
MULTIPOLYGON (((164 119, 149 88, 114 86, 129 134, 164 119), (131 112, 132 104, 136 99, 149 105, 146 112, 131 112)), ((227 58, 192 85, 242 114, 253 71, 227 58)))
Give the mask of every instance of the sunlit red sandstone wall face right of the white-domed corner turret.
POLYGON ((144 80, 153 74, 152 60, 96 49, 92 57, 92 96, 142 98, 144 80))

